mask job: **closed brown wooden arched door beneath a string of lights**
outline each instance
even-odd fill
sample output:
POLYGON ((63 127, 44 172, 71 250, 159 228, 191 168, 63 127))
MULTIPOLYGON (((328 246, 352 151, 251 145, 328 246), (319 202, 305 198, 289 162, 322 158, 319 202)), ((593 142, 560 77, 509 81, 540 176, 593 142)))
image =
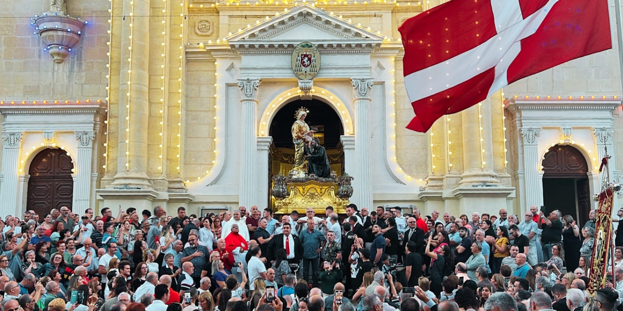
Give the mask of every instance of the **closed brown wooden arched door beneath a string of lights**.
POLYGON ((39 215, 52 208, 72 207, 74 164, 62 149, 44 149, 32 159, 28 174, 27 210, 39 215))

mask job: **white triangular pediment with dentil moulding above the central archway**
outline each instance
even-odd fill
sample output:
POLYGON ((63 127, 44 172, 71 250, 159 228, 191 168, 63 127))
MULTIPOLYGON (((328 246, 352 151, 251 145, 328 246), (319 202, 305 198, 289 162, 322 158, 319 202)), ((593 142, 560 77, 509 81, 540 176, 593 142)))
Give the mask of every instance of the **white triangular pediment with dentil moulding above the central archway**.
POLYGON ((264 21, 241 29, 226 38, 232 47, 288 47, 308 41, 322 47, 350 45, 376 47, 384 36, 378 32, 346 21, 332 12, 300 4, 264 21))

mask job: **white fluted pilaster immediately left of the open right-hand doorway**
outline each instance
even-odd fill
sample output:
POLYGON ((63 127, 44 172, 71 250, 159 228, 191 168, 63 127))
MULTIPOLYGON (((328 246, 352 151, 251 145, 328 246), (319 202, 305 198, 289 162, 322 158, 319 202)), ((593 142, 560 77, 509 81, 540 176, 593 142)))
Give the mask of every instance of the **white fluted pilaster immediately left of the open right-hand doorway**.
POLYGON ((538 154, 538 139, 541 135, 541 128, 522 128, 520 129, 521 137, 523 137, 523 167, 524 180, 526 182, 525 197, 526 208, 532 205, 540 207, 543 202, 541 193, 540 166, 541 157, 538 154))

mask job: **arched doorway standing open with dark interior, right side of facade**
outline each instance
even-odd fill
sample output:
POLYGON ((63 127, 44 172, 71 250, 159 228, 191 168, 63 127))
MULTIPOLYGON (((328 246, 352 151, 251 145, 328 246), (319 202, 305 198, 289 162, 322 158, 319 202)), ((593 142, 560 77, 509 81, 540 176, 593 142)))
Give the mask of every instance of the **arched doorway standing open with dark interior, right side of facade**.
POLYGON ((573 146, 550 147, 543 165, 543 204, 545 212, 559 210, 571 215, 580 228, 588 220, 591 195, 584 155, 573 146))

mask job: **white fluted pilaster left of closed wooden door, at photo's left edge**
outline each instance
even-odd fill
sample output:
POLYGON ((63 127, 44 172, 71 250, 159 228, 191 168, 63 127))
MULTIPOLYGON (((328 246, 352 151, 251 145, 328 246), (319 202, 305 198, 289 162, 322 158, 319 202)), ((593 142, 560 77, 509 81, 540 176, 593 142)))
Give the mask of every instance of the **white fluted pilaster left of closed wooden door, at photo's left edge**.
POLYGON ((0 188, 0 215, 16 215, 17 208, 17 169, 19 169, 19 149, 24 134, 3 132, 2 140, 2 188, 0 188))

